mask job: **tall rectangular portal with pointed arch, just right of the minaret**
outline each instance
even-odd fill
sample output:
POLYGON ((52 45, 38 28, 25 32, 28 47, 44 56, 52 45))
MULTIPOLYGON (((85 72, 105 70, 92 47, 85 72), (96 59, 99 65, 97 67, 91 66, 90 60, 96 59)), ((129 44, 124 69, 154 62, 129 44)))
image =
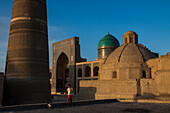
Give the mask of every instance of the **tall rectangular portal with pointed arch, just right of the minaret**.
POLYGON ((51 93, 64 90, 69 84, 76 93, 76 63, 85 62, 80 56, 79 37, 53 43, 51 93))

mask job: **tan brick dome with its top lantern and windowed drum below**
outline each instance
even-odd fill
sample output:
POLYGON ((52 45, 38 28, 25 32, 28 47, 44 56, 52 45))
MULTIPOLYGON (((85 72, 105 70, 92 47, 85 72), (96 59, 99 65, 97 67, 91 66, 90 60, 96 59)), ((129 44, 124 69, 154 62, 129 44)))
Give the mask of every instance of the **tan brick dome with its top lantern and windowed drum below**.
POLYGON ((141 44, 138 44, 137 34, 128 31, 123 35, 124 44, 115 49, 100 69, 100 79, 140 79, 151 78, 151 70, 146 61, 157 58, 141 44))

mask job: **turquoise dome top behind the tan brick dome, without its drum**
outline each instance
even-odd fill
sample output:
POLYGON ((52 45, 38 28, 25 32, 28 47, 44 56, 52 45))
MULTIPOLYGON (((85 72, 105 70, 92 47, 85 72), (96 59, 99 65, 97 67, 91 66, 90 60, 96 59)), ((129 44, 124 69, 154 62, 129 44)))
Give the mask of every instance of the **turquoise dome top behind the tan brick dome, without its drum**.
POLYGON ((98 43, 98 48, 101 48, 101 47, 103 48, 107 46, 112 46, 114 48, 117 48, 120 46, 120 43, 114 36, 107 34, 102 39, 100 39, 98 43))

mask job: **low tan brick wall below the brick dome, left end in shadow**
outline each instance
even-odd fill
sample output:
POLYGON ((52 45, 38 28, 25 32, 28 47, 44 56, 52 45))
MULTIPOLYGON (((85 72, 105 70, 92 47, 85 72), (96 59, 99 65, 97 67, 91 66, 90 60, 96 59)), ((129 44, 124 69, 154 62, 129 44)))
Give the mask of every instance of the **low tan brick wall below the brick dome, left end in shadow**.
POLYGON ((136 80, 80 81, 80 100, 133 98, 137 93, 136 80))

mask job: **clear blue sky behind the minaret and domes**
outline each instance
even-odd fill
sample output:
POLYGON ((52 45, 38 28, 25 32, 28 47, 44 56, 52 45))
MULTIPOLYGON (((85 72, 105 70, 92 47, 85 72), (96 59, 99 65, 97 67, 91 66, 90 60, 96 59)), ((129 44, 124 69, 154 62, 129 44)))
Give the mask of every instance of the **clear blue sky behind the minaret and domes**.
MULTIPOLYGON (((128 30, 153 52, 170 52, 170 0, 47 0, 50 65, 52 43, 80 37, 81 55, 97 58, 98 41, 110 32, 122 44, 128 30)), ((0 0, 0 71, 4 71, 12 0, 0 0)))

